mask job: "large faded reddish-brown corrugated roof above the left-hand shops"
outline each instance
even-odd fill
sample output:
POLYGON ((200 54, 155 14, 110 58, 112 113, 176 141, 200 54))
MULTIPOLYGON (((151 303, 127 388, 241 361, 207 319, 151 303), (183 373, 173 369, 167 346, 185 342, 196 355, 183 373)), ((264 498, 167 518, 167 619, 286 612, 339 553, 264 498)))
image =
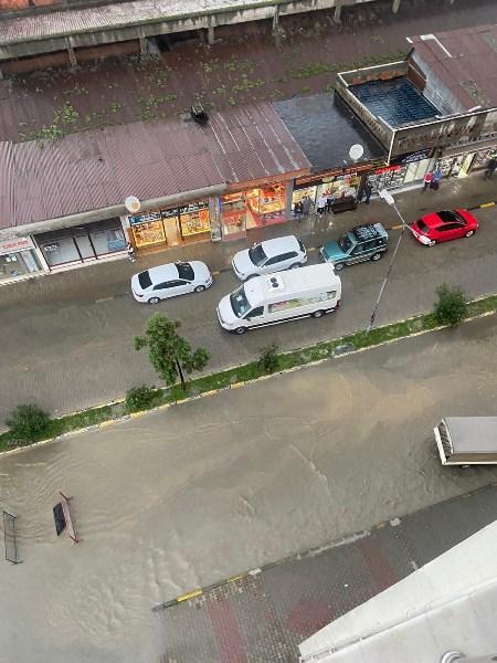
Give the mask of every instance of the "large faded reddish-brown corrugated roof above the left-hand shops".
POLYGON ((0 229, 77 214, 127 196, 306 173, 304 152, 271 104, 191 119, 134 123, 67 136, 43 148, 0 144, 0 229))

